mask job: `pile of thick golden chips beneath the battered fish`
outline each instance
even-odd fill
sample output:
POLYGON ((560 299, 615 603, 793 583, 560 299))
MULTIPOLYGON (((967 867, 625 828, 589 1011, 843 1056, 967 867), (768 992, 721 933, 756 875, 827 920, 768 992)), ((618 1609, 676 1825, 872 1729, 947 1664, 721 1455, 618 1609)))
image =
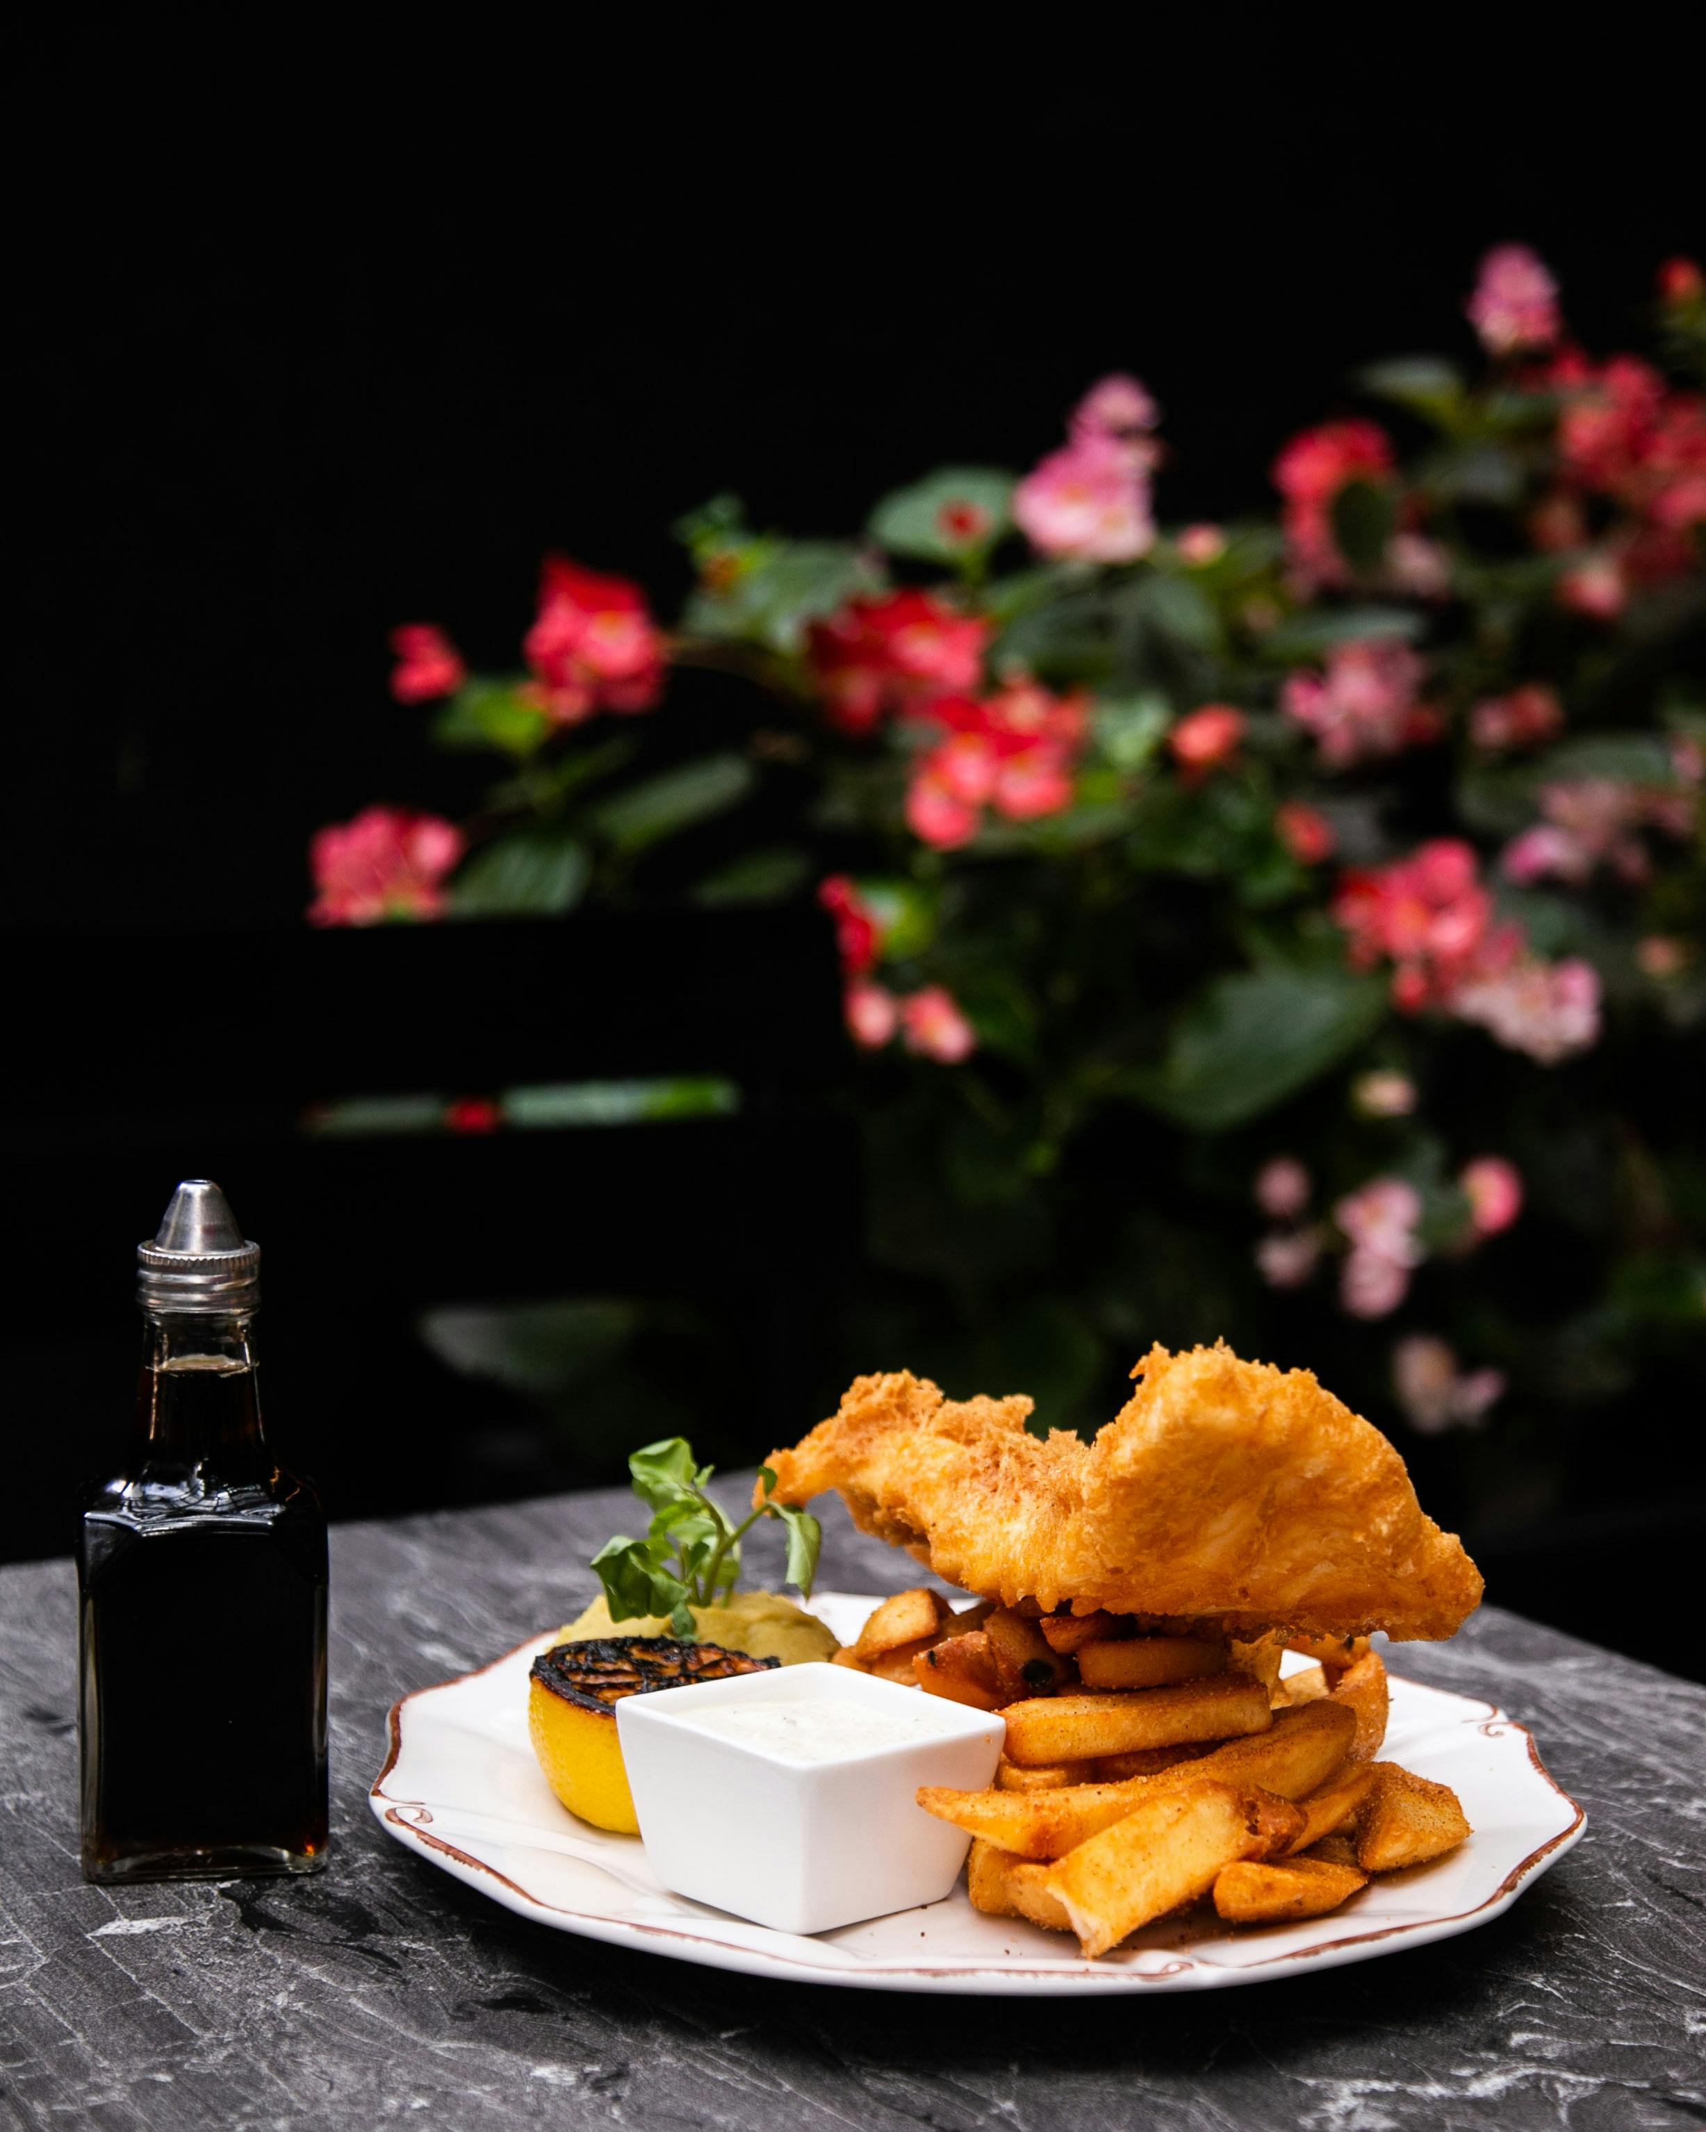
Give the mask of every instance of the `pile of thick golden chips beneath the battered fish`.
POLYGON ((1365 1637, 1175 1629, 992 1601, 953 1614, 919 1586, 838 1654, 1007 1718, 992 1789, 919 1791, 972 1838, 979 1910, 1096 1957, 1205 1895, 1239 1925, 1322 1917, 1469 1836, 1448 1784, 1378 1759, 1386 1667, 1365 1637), (1286 1648, 1314 1663, 1282 1680, 1286 1648))

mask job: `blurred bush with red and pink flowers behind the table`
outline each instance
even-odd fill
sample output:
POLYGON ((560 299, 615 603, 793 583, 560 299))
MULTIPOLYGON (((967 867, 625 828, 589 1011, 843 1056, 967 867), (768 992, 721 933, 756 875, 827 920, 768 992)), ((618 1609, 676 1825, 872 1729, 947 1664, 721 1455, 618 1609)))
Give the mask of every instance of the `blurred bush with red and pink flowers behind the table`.
POLYGON ((1224 1332, 1422 1435, 1503 1416, 1484 1497, 1557 1486, 1538 1416, 1706 1324, 1706 292, 1670 262, 1661 360, 1593 360, 1506 245, 1467 318, 1478 375, 1365 371, 1273 520, 1158 527, 1160 411, 1107 377, 1024 478, 855 539, 708 503, 674 629, 559 559, 525 674, 399 629, 395 695, 505 772, 322 829, 311 917, 815 893, 859 1367, 1075 1424, 1224 1332))

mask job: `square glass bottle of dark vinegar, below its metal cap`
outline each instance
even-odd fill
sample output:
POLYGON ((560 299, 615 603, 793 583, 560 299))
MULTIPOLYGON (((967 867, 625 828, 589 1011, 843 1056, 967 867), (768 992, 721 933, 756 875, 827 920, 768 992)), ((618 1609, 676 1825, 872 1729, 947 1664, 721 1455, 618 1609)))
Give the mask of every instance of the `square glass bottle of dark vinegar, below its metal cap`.
POLYGON ((83 1516, 83 1872, 313 1872, 326 1851, 324 1514, 267 1458, 252 1371, 166 1369, 151 1401, 164 1426, 83 1516))

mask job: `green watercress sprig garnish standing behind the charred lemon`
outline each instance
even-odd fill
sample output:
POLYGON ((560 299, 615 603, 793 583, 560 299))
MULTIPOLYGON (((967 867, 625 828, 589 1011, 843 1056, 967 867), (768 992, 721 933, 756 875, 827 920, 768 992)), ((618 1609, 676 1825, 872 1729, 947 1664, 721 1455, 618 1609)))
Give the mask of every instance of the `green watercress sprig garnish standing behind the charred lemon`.
POLYGON ((685 1437, 646 1443, 627 1463, 633 1492, 650 1509, 644 1539, 616 1533, 593 1556, 612 1620, 667 1614, 676 1635, 693 1635, 695 1605, 719 1605, 740 1578, 740 1539, 759 1518, 787 1527, 787 1582, 812 1595, 823 1529, 810 1512, 772 1503, 776 1475, 759 1467, 766 1501, 740 1524, 706 1495, 714 1467, 693 1465, 685 1437))

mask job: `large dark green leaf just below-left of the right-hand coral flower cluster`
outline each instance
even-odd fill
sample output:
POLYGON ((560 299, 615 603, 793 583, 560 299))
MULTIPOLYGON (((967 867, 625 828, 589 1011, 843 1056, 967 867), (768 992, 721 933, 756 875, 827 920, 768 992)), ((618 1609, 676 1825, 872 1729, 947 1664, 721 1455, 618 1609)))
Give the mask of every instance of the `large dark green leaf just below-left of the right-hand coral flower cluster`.
POLYGON ((1216 979, 1179 1015, 1166 1060, 1134 1094, 1192 1132, 1226 1132, 1294 1096, 1380 1025, 1380 976, 1333 968, 1216 979))

